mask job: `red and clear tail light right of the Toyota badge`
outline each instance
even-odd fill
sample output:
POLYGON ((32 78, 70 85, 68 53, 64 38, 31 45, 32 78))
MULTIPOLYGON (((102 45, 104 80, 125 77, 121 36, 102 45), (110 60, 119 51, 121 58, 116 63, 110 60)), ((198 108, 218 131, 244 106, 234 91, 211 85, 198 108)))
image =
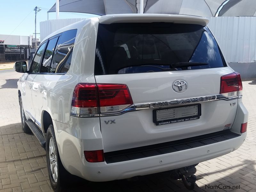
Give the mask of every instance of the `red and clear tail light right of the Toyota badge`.
POLYGON ((220 94, 225 97, 235 97, 242 95, 242 80, 239 73, 230 73, 220 77, 220 94))

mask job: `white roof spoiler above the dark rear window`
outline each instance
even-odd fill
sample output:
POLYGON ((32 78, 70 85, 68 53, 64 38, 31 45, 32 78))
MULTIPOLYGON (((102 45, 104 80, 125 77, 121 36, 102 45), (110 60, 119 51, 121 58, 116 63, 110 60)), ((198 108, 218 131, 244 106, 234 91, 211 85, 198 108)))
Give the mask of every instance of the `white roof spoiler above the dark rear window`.
POLYGON ((172 14, 113 14, 104 15, 99 18, 101 24, 111 23, 152 23, 169 22, 184 23, 206 26, 209 20, 204 17, 191 15, 172 15, 172 14))

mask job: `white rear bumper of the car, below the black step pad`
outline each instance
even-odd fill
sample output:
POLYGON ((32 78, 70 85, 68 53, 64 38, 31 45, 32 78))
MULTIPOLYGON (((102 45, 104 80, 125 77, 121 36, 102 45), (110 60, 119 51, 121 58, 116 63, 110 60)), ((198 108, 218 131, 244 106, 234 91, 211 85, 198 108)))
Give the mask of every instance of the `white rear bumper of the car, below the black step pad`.
POLYGON ((110 181, 178 169, 228 154, 243 144, 246 134, 196 148, 116 163, 87 162, 84 157, 87 141, 61 130, 57 135, 66 139, 62 144, 57 141, 57 145, 60 159, 68 172, 90 181, 110 181))

